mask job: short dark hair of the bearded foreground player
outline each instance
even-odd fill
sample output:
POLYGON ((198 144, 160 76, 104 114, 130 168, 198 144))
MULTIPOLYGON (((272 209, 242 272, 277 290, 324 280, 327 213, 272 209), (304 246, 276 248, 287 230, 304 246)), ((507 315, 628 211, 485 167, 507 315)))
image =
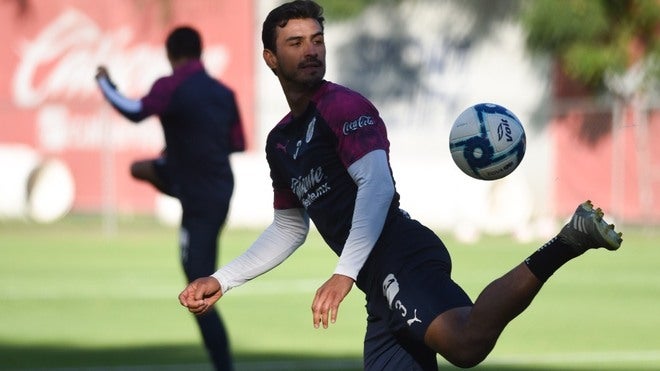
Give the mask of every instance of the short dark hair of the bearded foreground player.
POLYGON ((323 8, 311 0, 295 0, 282 4, 268 13, 261 29, 261 42, 264 49, 275 52, 275 40, 277 38, 277 27, 285 27, 290 19, 313 18, 323 29, 323 8))

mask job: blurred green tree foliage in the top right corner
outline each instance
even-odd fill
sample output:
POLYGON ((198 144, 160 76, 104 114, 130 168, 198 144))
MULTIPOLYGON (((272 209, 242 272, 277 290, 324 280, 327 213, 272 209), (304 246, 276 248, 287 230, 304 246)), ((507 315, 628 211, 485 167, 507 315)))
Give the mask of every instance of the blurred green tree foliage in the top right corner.
POLYGON ((630 96, 659 76, 656 0, 527 1, 522 24, 530 51, 549 54, 592 93, 630 96))

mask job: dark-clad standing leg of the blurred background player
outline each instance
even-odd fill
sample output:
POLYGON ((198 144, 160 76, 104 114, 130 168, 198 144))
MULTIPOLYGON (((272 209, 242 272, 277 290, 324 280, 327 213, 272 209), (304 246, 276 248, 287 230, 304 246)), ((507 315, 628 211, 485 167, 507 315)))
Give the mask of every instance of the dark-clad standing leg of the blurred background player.
MULTIPOLYGON (((224 217, 191 216, 184 210, 181 228, 181 259, 191 282, 216 270, 217 241, 224 217)), ((227 331, 220 313, 212 309, 195 316, 204 345, 216 370, 233 370, 227 331)))

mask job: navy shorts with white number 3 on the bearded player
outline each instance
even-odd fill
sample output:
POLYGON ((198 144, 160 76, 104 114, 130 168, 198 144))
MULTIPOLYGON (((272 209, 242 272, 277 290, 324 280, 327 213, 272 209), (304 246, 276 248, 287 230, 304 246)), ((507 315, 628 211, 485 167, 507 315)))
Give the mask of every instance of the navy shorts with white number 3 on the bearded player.
POLYGON ((440 238, 403 215, 388 223, 358 277, 367 295, 365 370, 437 370, 424 334, 441 313, 471 306, 451 279, 440 238))

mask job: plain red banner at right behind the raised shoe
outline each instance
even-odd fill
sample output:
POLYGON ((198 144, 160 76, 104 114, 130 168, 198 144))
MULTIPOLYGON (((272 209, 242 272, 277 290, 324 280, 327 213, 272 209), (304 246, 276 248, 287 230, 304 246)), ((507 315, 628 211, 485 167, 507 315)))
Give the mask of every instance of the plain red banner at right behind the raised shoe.
POLYGON ((553 120, 557 215, 570 215, 575 205, 591 199, 610 220, 660 221, 660 116, 633 111, 624 110, 621 122, 607 111, 579 110, 553 120))

